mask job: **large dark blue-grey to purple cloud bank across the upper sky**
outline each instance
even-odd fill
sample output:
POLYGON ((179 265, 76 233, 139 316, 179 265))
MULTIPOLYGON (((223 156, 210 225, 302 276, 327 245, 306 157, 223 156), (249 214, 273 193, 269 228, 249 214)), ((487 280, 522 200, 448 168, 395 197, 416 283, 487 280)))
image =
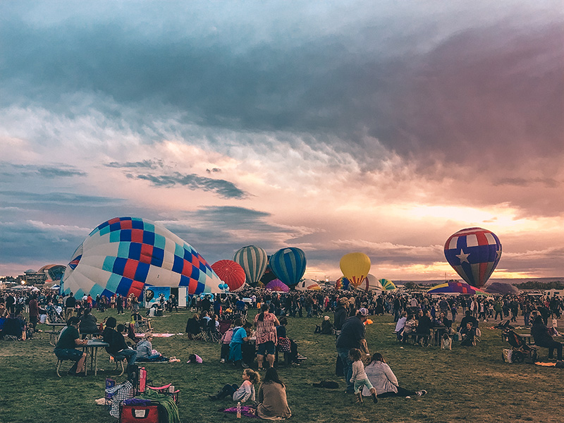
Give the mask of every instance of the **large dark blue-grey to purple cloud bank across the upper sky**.
POLYGON ((367 154, 381 144, 419 170, 438 162, 446 172, 449 162, 513 166, 525 147, 532 157, 563 151, 558 2, 515 7, 498 20, 489 18, 497 10, 478 4, 474 27, 456 27, 457 12, 440 7, 301 6, 302 16, 289 18, 277 2, 243 6, 171 13, 147 3, 127 15, 127 7, 104 15, 107 6, 92 6, 88 18, 71 8, 68 19, 44 24, 6 7, 3 102, 25 95, 56 109, 61 95, 95 92, 138 107, 140 131, 152 126, 141 116, 172 108, 209 127, 310 133, 312 143, 337 135, 333 147, 359 161, 381 159, 367 154), (319 13, 325 21, 312 25, 308 18, 319 13), (265 23, 252 19, 261 14, 265 23), (437 19, 450 34, 439 36, 437 19))

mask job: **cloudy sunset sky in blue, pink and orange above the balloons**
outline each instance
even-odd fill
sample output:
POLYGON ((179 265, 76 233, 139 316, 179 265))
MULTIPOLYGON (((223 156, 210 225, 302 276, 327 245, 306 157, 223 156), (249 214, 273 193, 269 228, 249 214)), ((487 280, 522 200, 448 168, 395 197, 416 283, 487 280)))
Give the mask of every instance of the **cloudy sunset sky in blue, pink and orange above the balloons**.
POLYGON ((0 40, 0 275, 139 216, 333 279, 455 278, 479 226, 564 276, 561 1, 3 1, 0 40))

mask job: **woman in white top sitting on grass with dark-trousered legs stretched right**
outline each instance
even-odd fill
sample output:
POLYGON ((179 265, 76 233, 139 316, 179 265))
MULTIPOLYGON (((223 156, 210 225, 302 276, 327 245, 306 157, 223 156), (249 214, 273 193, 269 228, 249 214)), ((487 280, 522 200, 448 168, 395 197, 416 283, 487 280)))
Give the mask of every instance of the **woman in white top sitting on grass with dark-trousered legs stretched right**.
MULTIPOLYGON (((422 396, 427 391, 410 391, 409 389, 402 388, 398 384, 398 378, 393 374, 392 369, 380 353, 374 353, 370 364, 364 369, 368 376, 368 380, 376 389, 378 398, 386 398, 389 396, 403 396, 411 398, 412 396, 422 396)), ((362 388, 363 396, 370 396, 372 392, 364 386, 362 388)))

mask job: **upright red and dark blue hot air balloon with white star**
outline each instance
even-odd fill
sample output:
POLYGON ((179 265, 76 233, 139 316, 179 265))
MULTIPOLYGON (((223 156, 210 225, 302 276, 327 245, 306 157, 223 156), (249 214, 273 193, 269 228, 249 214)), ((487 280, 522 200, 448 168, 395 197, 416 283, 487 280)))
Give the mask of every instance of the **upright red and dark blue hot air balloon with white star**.
POLYGON ((461 229, 445 243, 446 261, 467 283, 484 286, 501 257, 497 235, 482 228, 461 229))

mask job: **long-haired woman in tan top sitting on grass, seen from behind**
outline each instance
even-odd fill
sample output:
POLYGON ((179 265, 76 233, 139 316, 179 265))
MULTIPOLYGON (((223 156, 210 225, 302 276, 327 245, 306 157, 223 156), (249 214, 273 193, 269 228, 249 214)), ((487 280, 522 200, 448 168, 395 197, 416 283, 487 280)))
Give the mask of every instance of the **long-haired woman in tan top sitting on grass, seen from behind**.
POLYGON ((286 385, 274 367, 266 369, 264 381, 259 387, 258 401, 257 416, 261 419, 284 420, 292 416, 286 398, 286 385))

